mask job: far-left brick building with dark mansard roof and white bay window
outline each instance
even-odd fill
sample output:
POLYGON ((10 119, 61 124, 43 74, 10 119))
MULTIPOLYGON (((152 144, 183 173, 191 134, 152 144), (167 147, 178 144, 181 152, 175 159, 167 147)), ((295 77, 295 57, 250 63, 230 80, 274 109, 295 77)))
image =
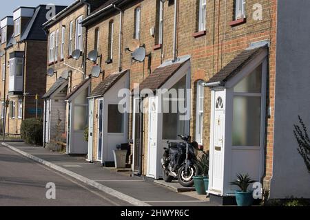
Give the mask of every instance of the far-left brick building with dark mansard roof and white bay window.
MULTIPOLYGON (((55 6, 55 12, 61 10, 55 6)), ((19 137, 25 118, 41 117, 45 93, 47 35, 42 30, 47 5, 20 7, 1 20, 1 124, 6 135, 19 137)))

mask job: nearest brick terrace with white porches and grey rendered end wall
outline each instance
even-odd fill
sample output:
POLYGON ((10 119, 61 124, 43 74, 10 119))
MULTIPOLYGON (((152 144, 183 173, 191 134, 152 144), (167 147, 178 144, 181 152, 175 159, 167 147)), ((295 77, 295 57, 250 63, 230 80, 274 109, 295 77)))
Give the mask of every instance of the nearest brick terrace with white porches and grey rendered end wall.
POLYGON ((237 173, 259 181, 271 198, 309 198, 309 172, 293 136, 298 115, 310 121, 309 33, 298 28, 307 25, 309 6, 288 0, 103 3, 81 22, 90 83, 83 102, 87 159, 110 166, 113 151, 131 142, 133 172, 160 179, 167 141, 191 135, 210 153, 211 200, 234 196, 229 183, 237 173), (132 96, 119 96, 121 89, 132 96), (163 113, 158 89, 190 89, 178 97, 185 113, 163 113), (119 111, 120 100, 130 100, 132 112, 119 111))

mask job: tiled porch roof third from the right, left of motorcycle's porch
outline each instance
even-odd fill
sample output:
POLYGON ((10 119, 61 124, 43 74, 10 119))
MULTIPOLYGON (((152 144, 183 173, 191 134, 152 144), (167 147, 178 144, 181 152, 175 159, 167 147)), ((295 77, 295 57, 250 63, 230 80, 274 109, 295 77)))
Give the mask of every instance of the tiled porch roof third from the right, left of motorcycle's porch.
POLYGON ((117 72, 114 74, 110 74, 105 78, 99 85, 92 91, 90 94, 91 97, 103 96, 111 87, 120 80, 129 69, 124 70, 123 72, 117 72))

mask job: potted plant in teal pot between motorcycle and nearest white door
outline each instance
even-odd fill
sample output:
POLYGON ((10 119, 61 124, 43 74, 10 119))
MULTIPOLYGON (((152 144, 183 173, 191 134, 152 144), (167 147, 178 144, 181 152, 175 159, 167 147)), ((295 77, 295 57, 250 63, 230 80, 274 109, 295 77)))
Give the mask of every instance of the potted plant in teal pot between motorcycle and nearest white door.
POLYGON ((199 168, 200 175, 194 176, 194 186, 198 195, 206 195, 209 186, 209 153, 203 151, 196 164, 199 168))

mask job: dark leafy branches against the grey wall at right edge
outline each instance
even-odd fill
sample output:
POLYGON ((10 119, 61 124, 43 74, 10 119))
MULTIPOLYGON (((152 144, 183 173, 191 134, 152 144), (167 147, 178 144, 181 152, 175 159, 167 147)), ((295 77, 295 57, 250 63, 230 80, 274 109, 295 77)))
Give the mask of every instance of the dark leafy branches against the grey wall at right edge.
POLYGON ((304 163, 306 164, 307 169, 310 173, 310 138, 308 135, 307 127, 304 125, 304 122, 302 121, 300 115, 298 115, 298 119, 300 125, 294 124, 293 133, 298 142, 298 153, 304 159, 304 163))

